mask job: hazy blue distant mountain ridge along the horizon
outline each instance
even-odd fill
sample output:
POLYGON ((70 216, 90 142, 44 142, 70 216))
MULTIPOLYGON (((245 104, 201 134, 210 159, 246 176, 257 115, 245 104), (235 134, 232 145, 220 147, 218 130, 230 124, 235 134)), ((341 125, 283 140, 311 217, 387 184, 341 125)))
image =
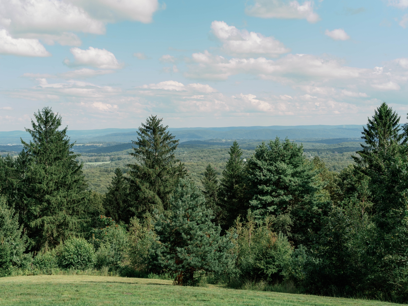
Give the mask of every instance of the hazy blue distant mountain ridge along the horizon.
MULTIPOLYGON (((289 139, 304 138, 353 138, 360 137, 362 125, 301 125, 301 126, 230 126, 213 128, 169 128, 180 142, 207 139, 289 139)), ((137 129, 68 130, 71 141, 131 142, 137 139, 137 129)), ((25 131, 0 132, 0 144, 20 144, 31 139, 25 131)))

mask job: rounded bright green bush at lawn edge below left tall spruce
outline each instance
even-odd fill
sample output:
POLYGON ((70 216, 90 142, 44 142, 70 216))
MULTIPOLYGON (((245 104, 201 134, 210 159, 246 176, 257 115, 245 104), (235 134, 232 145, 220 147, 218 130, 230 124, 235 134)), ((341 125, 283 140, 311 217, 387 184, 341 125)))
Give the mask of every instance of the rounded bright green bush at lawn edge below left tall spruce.
POLYGON ((83 238, 70 238, 59 248, 57 262, 61 268, 92 269, 95 265, 95 250, 83 238))

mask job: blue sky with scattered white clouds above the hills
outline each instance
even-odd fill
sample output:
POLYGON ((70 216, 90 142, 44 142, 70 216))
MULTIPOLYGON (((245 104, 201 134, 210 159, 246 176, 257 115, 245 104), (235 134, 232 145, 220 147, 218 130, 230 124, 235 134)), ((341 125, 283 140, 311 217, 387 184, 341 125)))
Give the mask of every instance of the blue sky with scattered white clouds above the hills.
POLYGON ((0 0, 0 131, 406 122, 408 0, 0 0))

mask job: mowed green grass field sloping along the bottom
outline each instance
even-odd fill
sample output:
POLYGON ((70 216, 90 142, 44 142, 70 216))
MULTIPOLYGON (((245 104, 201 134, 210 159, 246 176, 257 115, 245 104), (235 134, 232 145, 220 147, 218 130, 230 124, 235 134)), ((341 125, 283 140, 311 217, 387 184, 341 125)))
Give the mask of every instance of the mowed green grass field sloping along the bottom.
POLYGON ((179 287, 171 281, 87 275, 0 278, 0 305, 397 305, 314 295, 235 290, 222 286, 179 287))

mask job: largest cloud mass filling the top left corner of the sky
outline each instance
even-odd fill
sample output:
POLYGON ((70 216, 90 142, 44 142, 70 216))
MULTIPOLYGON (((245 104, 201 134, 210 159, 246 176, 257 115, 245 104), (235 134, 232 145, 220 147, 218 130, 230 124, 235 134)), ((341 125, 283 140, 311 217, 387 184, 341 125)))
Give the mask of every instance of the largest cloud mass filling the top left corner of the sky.
POLYGON ((148 23, 157 0, 2 0, 0 27, 16 38, 80 46, 73 32, 104 34, 107 22, 148 23))

